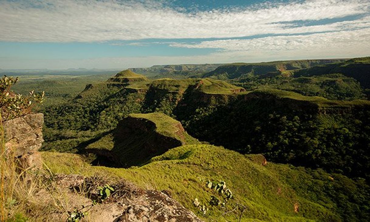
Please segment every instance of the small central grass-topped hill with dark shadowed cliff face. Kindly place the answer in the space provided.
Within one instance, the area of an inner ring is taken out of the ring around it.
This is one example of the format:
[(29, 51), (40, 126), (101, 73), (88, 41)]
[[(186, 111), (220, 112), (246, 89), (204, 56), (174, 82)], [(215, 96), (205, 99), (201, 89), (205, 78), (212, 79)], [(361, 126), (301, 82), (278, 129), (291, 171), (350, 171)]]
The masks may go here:
[(98, 158), (108, 159), (114, 166), (128, 167), (144, 164), (168, 149), (197, 143), (196, 139), (185, 132), (179, 121), (154, 112), (128, 115), (111, 133), (87, 145), (85, 151), (97, 154)]

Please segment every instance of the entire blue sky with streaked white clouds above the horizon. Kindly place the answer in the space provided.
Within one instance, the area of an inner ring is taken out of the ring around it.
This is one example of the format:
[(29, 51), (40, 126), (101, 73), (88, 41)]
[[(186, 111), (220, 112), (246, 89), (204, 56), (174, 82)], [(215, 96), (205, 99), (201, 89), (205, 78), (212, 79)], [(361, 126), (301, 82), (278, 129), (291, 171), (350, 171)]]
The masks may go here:
[(1, 69), (370, 55), (370, 0), (0, 0)]

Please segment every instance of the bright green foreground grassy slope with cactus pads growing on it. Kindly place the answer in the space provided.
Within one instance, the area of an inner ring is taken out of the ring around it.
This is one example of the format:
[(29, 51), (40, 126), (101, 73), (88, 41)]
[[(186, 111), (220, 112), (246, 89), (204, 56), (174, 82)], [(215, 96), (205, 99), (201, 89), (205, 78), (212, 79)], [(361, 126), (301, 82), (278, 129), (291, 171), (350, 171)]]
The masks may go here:
[[(143, 188), (166, 190), (205, 221), (369, 220), (369, 187), (364, 181), (270, 162), (263, 166), (254, 157), (222, 147), (177, 147), (129, 169), (89, 166), (74, 154), (43, 152), (43, 158), (54, 173), (115, 175)], [(234, 198), (225, 207), (209, 204), (211, 196), (221, 195), (206, 186), (208, 180), (225, 181), (232, 191)], [(193, 205), (195, 198), (208, 206), (205, 216)], [(232, 211), (237, 203), (240, 209)]]

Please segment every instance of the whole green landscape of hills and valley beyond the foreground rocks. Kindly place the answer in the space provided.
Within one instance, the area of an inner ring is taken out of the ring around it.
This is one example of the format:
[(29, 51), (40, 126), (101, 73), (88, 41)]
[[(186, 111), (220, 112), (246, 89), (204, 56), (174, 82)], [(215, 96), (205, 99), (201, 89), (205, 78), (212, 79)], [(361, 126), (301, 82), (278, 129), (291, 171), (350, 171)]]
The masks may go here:
[[(21, 78), (13, 90), (45, 91), (51, 175), (124, 179), (204, 221), (367, 221), (369, 64), (158, 66)], [(229, 202), (211, 181), (227, 184)]]

